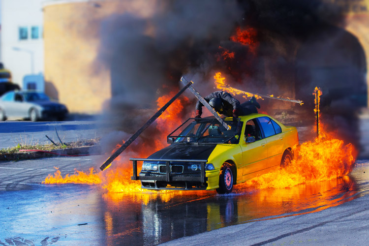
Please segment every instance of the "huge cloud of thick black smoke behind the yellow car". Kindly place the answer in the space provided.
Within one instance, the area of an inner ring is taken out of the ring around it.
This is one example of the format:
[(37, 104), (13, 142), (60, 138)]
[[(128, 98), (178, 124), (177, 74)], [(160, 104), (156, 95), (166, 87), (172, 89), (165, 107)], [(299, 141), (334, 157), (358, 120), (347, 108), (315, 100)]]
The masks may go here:
[[(159, 96), (179, 89), (183, 75), (193, 79), (204, 96), (215, 91), (213, 76), (221, 71), (237, 88), (304, 100), (303, 106), (287, 106), (303, 119), (297, 125), (314, 122), (312, 92), (321, 87), (327, 125), (345, 140), (358, 143), (356, 114), (367, 101), (366, 61), (360, 43), (344, 30), (345, 19), (335, 2), (156, 3), (150, 15), (128, 11), (101, 24), (99, 59), (111, 71), (107, 118), (114, 122), (112, 127), (134, 132), (154, 114)], [(237, 28), (256, 30), (256, 54), (230, 40)], [(224, 48), (235, 52), (235, 58), (223, 59)], [(191, 102), (185, 105), (183, 118), (194, 108), (195, 100)], [(267, 99), (261, 104), (264, 112), (276, 116), (286, 108)], [(142, 137), (153, 134), (149, 130)]]

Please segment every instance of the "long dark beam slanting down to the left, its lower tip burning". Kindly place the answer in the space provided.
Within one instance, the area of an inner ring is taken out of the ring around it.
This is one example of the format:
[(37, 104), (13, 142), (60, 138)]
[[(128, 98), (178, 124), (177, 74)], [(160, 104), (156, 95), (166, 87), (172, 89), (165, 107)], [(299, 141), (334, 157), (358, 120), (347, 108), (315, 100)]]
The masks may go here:
[(189, 86), (191, 86), (193, 82), (188, 82), (184, 88), (180, 92), (178, 92), (175, 96), (172, 97), (159, 111), (156, 112), (156, 114), (153, 115), (153, 117), (150, 118), (149, 121), (147, 121), (138, 131), (136, 131), (135, 134), (133, 134), (118, 150), (116, 150), (101, 166), (100, 170), (105, 170), (115, 158), (118, 157), (151, 123), (153, 123), (168, 107), (170, 104), (174, 102)]

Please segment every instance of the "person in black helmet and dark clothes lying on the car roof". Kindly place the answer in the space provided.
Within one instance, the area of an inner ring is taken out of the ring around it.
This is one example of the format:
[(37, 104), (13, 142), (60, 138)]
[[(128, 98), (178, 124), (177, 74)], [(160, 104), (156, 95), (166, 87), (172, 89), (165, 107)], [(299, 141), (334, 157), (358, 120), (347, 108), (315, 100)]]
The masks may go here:
[[(250, 100), (240, 103), (239, 100), (231, 96), (228, 92), (218, 91), (207, 95), (204, 99), (216, 112), (226, 117), (238, 118), (239, 116), (257, 113), (256, 108), (260, 108), (260, 104), (256, 101), (254, 96), (252, 96)], [(200, 101), (196, 103), (195, 118), (201, 118), (202, 106), (204, 105)]]

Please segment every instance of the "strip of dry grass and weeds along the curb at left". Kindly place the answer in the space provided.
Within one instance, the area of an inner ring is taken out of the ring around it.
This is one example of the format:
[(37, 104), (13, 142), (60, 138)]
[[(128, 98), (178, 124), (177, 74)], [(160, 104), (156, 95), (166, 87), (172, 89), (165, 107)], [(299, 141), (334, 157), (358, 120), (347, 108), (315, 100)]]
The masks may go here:
[(18, 144), (15, 147), (9, 147), (6, 149), (1, 149), (0, 154), (13, 154), (18, 153), (20, 150), (40, 150), (40, 151), (53, 151), (60, 149), (69, 149), (69, 148), (77, 148), (77, 147), (87, 147), (94, 146), (99, 143), (100, 139), (89, 139), (89, 140), (81, 140), (66, 144), (58, 144), (57, 146), (54, 144)]

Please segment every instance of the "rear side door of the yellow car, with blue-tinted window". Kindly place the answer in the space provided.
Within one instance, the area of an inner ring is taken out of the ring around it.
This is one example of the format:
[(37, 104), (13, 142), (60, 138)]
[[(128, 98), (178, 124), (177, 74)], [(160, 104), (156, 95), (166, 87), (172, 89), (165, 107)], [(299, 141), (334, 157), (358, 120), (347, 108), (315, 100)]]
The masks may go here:
[(281, 127), (269, 117), (259, 117), (268, 149), (268, 167), (280, 165), (283, 154), (283, 134)]

